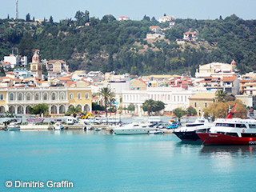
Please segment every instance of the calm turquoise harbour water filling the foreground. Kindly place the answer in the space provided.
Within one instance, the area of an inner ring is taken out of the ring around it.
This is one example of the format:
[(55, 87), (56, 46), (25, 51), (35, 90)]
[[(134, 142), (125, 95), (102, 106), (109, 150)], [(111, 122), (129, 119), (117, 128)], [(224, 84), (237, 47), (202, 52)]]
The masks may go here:
[[(1, 131), (0, 191), (256, 191), (255, 147), (202, 147), (173, 134)], [(5, 186), (49, 180), (74, 187)]]

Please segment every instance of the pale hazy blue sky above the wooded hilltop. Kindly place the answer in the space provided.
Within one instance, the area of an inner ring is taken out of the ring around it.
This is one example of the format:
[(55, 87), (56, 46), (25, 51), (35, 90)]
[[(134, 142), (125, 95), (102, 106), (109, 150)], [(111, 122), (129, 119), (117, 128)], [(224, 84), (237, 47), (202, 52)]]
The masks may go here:
[[(0, 0), (0, 18), (15, 18), (17, 0)], [(255, 0), (18, 0), (19, 18), (50, 18), (58, 22), (74, 18), (77, 10), (89, 10), (90, 17), (102, 18), (113, 14), (115, 18), (128, 16), (141, 20), (146, 14), (158, 19), (166, 15), (175, 18), (215, 19), (236, 14), (239, 18), (256, 18)]]

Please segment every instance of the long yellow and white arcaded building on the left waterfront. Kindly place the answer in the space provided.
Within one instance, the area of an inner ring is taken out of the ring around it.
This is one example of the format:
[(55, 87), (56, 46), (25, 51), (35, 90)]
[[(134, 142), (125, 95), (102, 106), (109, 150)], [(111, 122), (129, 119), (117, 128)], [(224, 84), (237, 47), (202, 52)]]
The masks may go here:
[(29, 106), (45, 103), (50, 114), (65, 114), (70, 106), (91, 112), (88, 87), (9, 87), (0, 90), (0, 113), (28, 114)]

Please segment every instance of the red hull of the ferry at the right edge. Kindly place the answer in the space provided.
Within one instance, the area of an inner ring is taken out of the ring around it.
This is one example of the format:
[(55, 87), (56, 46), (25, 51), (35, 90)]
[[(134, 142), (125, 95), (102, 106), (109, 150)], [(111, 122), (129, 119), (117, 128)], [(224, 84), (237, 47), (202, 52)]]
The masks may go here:
[(256, 138), (239, 138), (226, 134), (197, 134), (205, 145), (256, 145)]

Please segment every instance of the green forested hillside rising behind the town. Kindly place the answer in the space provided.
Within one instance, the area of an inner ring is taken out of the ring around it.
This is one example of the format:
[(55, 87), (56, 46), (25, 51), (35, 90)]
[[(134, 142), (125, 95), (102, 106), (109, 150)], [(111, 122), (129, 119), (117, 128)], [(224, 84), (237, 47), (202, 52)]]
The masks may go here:
[[(241, 74), (256, 70), (256, 20), (234, 14), (216, 20), (175, 19), (175, 26), (164, 32), (166, 39), (157, 41), (146, 40), (149, 27), (166, 28), (169, 23), (147, 16), (118, 22), (112, 15), (89, 18), (89, 12), (78, 11), (74, 20), (26, 21), (0, 19), (0, 60), (18, 48), (29, 57), (38, 49), (41, 58), (65, 60), (70, 70), (194, 74), (199, 65), (233, 59)], [(186, 31), (198, 31), (198, 42), (178, 46), (176, 38)]]

